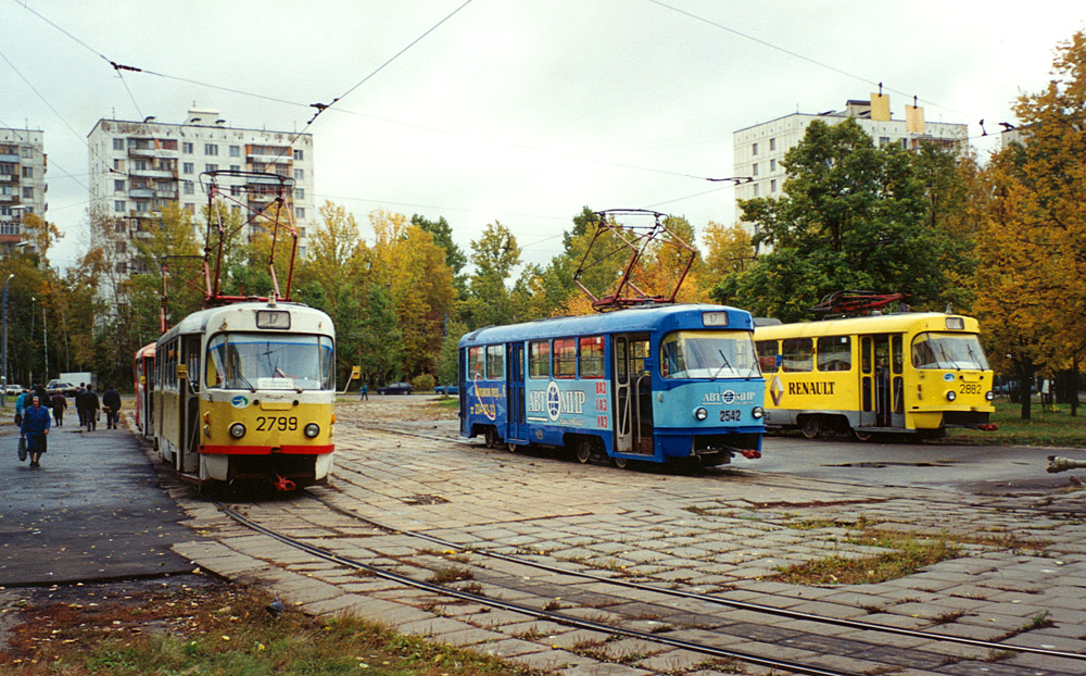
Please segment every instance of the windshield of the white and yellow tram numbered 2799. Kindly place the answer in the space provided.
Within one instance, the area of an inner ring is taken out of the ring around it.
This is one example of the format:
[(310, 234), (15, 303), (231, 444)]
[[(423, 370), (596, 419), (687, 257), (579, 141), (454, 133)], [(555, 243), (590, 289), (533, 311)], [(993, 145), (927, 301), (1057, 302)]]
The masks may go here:
[(207, 387), (330, 390), (332, 339), (298, 334), (217, 334), (207, 343)]

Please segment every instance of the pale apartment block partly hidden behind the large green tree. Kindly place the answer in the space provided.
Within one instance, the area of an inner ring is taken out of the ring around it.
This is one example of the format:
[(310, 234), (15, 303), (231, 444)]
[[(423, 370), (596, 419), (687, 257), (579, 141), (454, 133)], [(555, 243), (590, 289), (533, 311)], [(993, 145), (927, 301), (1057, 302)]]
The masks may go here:
[[(844, 111), (824, 113), (793, 113), (732, 135), (734, 142), (734, 175), (749, 176), (754, 180), (735, 186), (735, 222), (742, 211), (738, 200), (755, 197), (782, 197), (787, 177), (781, 160), (792, 148), (804, 140), (807, 127), (816, 120), (825, 124), (839, 124), (851, 117), (867, 132), (880, 148), (899, 143), (902, 148), (917, 149), (933, 142), (960, 152), (968, 149), (969, 127), (964, 124), (926, 122), (924, 109), (905, 107), (905, 120), (893, 120), (889, 96), (872, 93), (870, 100), (853, 100)], [(749, 227), (750, 224), (745, 224)]]

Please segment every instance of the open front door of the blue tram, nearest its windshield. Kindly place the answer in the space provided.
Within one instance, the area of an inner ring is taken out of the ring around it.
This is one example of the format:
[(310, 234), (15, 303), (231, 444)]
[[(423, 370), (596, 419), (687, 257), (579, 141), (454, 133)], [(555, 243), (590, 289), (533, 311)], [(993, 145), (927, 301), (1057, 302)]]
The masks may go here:
[(615, 450), (653, 454), (652, 376), (645, 368), (648, 336), (615, 336)]

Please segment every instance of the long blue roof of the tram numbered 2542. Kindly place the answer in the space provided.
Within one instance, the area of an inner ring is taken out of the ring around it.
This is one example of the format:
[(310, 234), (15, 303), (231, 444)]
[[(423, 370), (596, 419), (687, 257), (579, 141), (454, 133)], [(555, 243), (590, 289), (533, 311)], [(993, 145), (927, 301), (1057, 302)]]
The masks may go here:
[(684, 304), (684, 305), (645, 305), (628, 308), (605, 314), (590, 314), (568, 317), (553, 317), (510, 324), (508, 326), (488, 326), (460, 338), (460, 347), (488, 342), (506, 342), (509, 340), (539, 340), (543, 338), (563, 338), (572, 336), (591, 336), (596, 334), (620, 334), (651, 330), (675, 330), (703, 328), (702, 314), (705, 312), (727, 312), (728, 328), (732, 330), (750, 330), (754, 321), (746, 310), (728, 305)]

